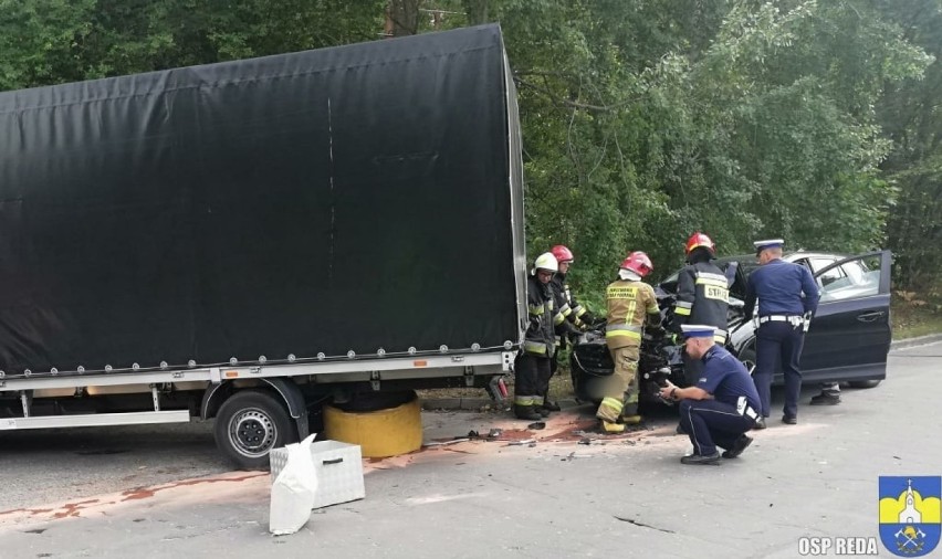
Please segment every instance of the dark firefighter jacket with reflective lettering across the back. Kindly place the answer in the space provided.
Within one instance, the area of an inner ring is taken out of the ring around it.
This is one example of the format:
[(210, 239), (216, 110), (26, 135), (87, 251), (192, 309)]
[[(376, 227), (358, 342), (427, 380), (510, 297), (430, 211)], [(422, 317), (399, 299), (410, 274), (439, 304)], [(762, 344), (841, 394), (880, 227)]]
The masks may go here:
[(703, 324), (716, 328), (714, 338), (726, 340), (729, 283), (723, 271), (712, 262), (688, 264), (677, 278), (677, 303), (671, 327), (680, 331), (682, 324)]

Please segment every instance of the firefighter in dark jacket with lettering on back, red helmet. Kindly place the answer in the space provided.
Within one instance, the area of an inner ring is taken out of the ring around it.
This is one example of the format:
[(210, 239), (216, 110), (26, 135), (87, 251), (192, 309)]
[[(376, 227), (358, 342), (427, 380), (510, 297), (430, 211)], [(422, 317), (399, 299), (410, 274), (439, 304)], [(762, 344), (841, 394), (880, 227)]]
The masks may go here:
[[(673, 307), (671, 330), (681, 334), (684, 324), (708, 325), (714, 328), (713, 340), (726, 344), (730, 289), (726, 276), (711, 261), (715, 256), (713, 240), (700, 231), (687, 240), (687, 266), (677, 278), (677, 303)], [(687, 383), (700, 379), (703, 361), (692, 359), (684, 351), (683, 370)]]

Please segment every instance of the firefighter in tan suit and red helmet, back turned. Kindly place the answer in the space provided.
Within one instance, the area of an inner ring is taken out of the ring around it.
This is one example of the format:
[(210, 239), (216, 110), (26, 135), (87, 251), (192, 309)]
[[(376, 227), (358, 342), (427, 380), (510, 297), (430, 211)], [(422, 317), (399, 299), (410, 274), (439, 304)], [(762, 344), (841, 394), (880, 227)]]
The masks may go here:
[(651, 259), (647, 254), (632, 252), (621, 263), (618, 280), (606, 288), (608, 320), (605, 341), (615, 361), (615, 372), (609, 377), (605, 397), (596, 411), (600, 430), (605, 433), (620, 433), (626, 424), (641, 421), (638, 414), (641, 334), (646, 323), (650, 327), (661, 324), (655, 289), (641, 281), (652, 271)]

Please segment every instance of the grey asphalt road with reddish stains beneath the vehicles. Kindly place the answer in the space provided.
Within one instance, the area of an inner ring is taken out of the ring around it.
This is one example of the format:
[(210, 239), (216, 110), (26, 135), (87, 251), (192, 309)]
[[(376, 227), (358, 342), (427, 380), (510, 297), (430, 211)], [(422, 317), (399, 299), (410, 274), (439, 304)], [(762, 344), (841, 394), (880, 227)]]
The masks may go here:
[(279, 538), (268, 475), (228, 472), (208, 425), (4, 433), (0, 558), (798, 557), (803, 537), (879, 541), (878, 477), (942, 475), (940, 370), (942, 344), (893, 350), (878, 388), (804, 405), (721, 466), (679, 463), (690, 443), (669, 413), (592, 444), (585, 408), (532, 432), (426, 413), (429, 442), (495, 426), (504, 440), (368, 461), (365, 499)]

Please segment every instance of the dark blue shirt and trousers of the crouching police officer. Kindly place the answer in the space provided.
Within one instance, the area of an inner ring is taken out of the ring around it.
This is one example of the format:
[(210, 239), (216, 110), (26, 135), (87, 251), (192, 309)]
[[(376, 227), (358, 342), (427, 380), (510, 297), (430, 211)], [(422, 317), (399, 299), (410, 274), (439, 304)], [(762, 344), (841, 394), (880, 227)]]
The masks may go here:
[(753, 428), (758, 418), (758, 393), (745, 366), (725, 348), (711, 347), (702, 360), (703, 373), (695, 386), (713, 399), (682, 400), (680, 424), (693, 443), (693, 453), (711, 456), (716, 446), (732, 449)]

